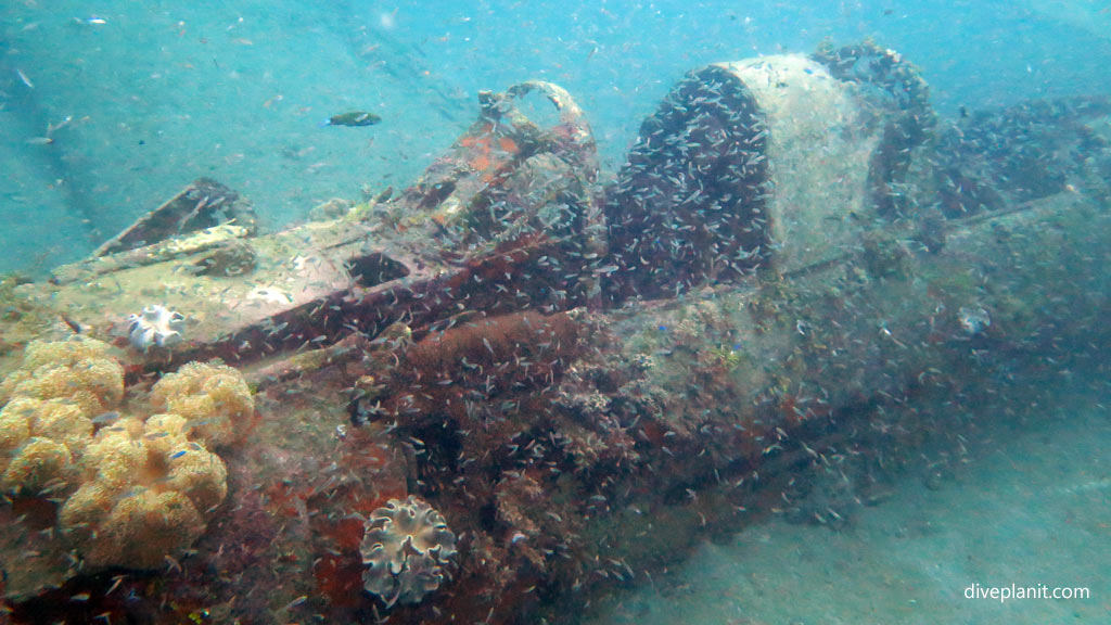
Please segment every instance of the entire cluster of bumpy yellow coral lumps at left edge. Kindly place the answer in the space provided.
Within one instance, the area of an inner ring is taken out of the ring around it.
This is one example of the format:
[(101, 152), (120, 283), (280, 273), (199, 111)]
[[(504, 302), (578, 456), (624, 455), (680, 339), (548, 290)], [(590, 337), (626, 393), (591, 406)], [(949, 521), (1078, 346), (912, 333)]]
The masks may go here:
[(0, 383), (0, 488), (59, 502), (59, 533), (89, 565), (152, 568), (188, 548), (227, 495), (209, 450), (254, 401), (231, 367), (190, 363), (151, 390), (153, 416), (116, 411), (123, 369), (101, 341), (32, 341)]

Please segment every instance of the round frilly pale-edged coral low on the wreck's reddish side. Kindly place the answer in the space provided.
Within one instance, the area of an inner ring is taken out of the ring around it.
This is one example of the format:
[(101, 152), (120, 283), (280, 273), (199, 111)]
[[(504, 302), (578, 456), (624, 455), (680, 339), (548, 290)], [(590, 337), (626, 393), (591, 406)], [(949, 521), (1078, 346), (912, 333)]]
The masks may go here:
[(362, 540), (363, 587), (392, 606), (420, 603), (454, 565), (456, 535), (443, 516), (412, 495), (390, 499), (367, 519)]

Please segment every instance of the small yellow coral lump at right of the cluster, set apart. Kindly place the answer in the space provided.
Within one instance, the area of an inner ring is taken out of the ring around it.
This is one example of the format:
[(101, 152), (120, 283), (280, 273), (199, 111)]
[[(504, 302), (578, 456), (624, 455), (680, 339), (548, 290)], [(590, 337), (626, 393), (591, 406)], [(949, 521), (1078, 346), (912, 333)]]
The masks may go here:
[(254, 399), (243, 376), (213, 363), (189, 363), (168, 374), (151, 389), (156, 410), (188, 420), (188, 435), (211, 446), (239, 438), (254, 414)]

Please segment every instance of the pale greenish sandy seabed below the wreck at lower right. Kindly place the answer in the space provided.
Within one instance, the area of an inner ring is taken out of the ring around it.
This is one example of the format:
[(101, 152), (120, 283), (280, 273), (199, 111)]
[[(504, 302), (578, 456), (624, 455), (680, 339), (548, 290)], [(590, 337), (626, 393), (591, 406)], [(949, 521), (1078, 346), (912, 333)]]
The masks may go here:
[[(1088, 397), (1054, 413), (999, 428), (940, 485), (907, 476), (839, 530), (774, 518), (705, 543), (590, 623), (1111, 623), (1111, 410)], [(973, 584), (1090, 598), (965, 598)]]

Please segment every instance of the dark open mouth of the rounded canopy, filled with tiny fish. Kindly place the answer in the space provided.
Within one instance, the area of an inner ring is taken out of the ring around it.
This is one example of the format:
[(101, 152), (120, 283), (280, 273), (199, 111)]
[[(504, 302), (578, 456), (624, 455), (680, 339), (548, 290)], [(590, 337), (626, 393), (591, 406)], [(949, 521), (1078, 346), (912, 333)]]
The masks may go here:
[(607, 194), (609, 298), (673, 295), (734, 278), (767, 250), (762, 113), (724, 68), (693, 71), (644, 120)]

